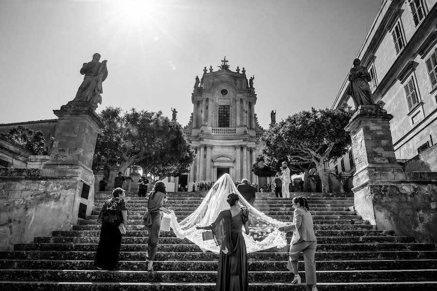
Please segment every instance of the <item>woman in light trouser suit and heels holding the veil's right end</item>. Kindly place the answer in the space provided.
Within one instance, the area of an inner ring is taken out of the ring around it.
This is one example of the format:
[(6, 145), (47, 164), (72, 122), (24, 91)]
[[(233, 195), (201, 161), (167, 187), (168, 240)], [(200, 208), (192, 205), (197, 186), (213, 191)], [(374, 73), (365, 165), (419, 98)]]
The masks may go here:
[(301, 276), (298, 272), (299, 253), (303, 252), (305, 263), (306, 285), (312, 286), (312, 291), (317, 291), (316, 280), (316, 247), (317, 240), (313, 228), (313, 218), (309, 211), (308, 202), (303, 197), (293, 198), (294, 219), (293, 224), (280, 227), (280, 231), (293, 231), (297, 228), (299, 236), (298, 242), (290, 245), (290, 253), (287, 269), (294, 273), (294, 279), (291, 283), (301, 283)]

